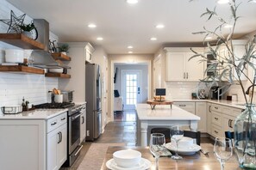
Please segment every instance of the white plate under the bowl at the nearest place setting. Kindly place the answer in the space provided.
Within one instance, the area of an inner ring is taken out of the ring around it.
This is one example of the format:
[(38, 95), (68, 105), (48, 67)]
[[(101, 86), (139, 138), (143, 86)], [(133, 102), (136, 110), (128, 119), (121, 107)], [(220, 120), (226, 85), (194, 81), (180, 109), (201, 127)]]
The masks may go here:
[(151, 162), (145, 158), (141, 158), (140, 163), (135, 167), (119, 167), (112, 158), (106, 162), (106, 166), (112, 170), (146, 170), (151, 167)]

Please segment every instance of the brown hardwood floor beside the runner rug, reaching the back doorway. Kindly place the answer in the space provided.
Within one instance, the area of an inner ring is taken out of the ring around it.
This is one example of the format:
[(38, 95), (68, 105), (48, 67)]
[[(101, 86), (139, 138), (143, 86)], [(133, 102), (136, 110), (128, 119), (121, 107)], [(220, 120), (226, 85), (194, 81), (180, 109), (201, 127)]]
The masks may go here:
[[(135, 146), (136, 134), (135, 111), (115, 112), (114, 122), (109, 122), (106, 125), (104, 133), (96, 141), (83, 143), (84, 147), (81, 150), (80, 156), (72, 167), (61, 167), (60, 170), (77, 170), (91, 143), (126, 143), (127, 146)], [(209, 137), (201, 137), (201, 143), (213, 143), (213, 140)]]

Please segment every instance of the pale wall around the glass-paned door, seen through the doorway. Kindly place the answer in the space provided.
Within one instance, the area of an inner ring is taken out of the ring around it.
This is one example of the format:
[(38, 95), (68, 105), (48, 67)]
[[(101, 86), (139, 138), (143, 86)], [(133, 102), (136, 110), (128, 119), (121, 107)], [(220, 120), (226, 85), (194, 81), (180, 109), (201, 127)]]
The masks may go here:
[(140, 101), (146, 103), (148, 100), (148, 71), (146, 64), (115, 64), (114, 70), (117, 68), (115, 89), (122, 95), (122, 70), (140, 70)]

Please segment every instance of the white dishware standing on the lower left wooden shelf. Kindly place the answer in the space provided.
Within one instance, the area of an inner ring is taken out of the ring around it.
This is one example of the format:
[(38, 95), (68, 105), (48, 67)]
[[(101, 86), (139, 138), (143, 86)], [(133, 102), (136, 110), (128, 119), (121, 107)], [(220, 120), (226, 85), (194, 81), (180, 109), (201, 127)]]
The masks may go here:
[(7, 63), (23, 63), (24, 51), (16, 49), (5, 50), (5, 62)]

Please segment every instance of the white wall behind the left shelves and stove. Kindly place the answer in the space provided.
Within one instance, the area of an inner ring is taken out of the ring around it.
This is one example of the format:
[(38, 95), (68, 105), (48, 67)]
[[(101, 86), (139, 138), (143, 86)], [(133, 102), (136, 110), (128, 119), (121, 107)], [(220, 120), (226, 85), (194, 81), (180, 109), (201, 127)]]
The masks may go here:
[[(10, 10), (19, 16), (24, 13), (5, 0), (0, 1), (0, 18), (9, 19)], [(26, 15), (25, 23), (29, 23), (31, 17)], [(0, 33), (6, 33), (8, 26), (0, 22)], [(58, 39), (50, 33), (50, 39)], [(0, 41), (0, 63), (5, 61), (4, 49), (16, 48)], [(26, 51), (28, 54), (29, 52)], [(58, 79), (49, 78), (44, 75), (25, 75), (0, 72), (0, 106), (21, 105), (22, 98), (36, 105), (47, 102), (48, 90), (58, 88)], [(1, 111), (0, 111), (1, 113)]]

